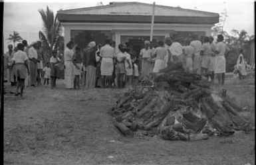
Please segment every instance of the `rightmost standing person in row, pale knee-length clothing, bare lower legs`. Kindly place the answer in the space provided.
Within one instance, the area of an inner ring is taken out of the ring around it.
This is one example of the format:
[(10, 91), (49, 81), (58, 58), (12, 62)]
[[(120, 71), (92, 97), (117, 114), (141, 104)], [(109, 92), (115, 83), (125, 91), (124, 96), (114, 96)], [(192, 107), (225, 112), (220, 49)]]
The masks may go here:
[(226, 59), (225, 51), (226, 44), (223, 42), (224, 37), (222, 34), (217, 35), (217, 44), (215, 54), (217, 55), (216, 64), (215, 64), (215, 74), (217, 74), (217, 79), (219, 85), (224, 85), (225, 82), (225, 72), (226, 72)]

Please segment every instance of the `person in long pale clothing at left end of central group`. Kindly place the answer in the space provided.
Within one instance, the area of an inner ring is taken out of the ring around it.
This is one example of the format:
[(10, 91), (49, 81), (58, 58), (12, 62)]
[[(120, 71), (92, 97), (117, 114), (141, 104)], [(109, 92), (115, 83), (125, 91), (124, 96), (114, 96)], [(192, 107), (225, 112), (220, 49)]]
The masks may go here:
[(74, 56), (74, 52), (72, 50), (73, 47), (74, 42), (70, 41), (66, 44), (66, 48), (64, 50), (66, 89), (74, 88), (74, 64), (72, 62), (72, 58)]

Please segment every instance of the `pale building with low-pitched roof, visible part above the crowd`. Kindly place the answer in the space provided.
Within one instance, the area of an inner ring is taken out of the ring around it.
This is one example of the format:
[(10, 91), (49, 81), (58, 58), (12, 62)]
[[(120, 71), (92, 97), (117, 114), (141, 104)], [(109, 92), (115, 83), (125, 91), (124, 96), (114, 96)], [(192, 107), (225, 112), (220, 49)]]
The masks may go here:
[[(68, 9), (57, 12), (64, 27), (64, 44), (74, 40), (85, 46), (91, 40), (104, 44), (109, 38), (130, 43), (138, 52), (144, 40), (150, 40), (152, 4), (138, 2), (112, 2), (109, 5)], [(180, 7), (155, 5), (153, 42), (173, 34), (176, 38), (210, 35), (211, 27), (219, 22), (219, 14)]]

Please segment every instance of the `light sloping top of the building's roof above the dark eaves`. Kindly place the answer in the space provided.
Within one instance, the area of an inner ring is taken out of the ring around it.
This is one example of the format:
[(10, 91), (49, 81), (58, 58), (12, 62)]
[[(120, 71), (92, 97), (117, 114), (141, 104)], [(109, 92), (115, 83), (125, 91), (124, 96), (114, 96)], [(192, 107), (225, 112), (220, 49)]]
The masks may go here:
[[(152, 4), (138, 2), (110, 3), (110, 5), (86, 7), (80, 9), (68, 9), (58, 11), (58, 14), (65, 15), (152, 15)], [(156, 5), (156, 16), (174, 17), (219, 17), (217, 13), (182, 9), (180, 7), (167, 7)]]

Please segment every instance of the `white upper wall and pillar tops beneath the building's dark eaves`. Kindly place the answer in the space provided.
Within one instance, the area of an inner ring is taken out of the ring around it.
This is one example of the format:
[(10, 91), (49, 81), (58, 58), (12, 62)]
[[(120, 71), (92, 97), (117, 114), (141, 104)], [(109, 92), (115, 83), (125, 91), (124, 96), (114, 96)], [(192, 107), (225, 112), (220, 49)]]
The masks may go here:
[[(120, 44), (121, 35), (150, 36), (150, 24), (138, 23), (62, 23), (64, 27), (64, 45), (70, 40), (70, 30), (111, 30), (112, 39), (115, 38), (116, 46)], [(176, 31), (203, 31), (205, 35), (211, 34), (213, 25), (191, 24), (155, 24), (154, 35), (169, 36), (171, 30)]]

